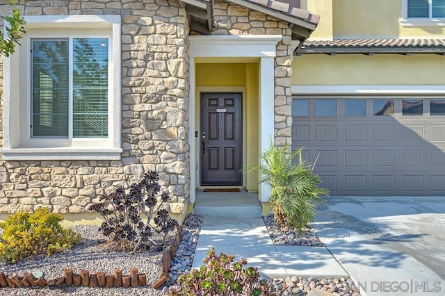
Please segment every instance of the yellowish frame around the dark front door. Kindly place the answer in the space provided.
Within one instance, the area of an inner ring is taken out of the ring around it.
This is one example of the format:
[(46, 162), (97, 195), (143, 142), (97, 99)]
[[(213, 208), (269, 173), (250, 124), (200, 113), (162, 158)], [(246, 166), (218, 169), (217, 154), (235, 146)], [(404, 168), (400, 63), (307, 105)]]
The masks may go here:
[[(238, 92), (241, 93), (241, 106), (243, 107), (241, 110), (241, 117), (242, 117), (242, 126), (241, 126), (241, 135), (243, 137), (242, 141), (242, 158), (243, 162), (241, 163), (242, 167), (245, 167), (246, 163), (246, 142), (245, 142), (245, 128), (246, 128), (246, 122), (245, 122), (245, 87), (244, 86), (197, 86), (196, 87), (196, 96), (195, 96), (195, 131), (198, 131), (198, 137), (195, 137), (195, 147), (200, 147), (200, 127), (201, 127), (201, 93), (202, 92)], [(200, 149), (195, 149), (195, 161), (196, 161), (196, 170), (194, 172), (195, 174), (195, 188), (205, 188), (208, 186), (202, 186), (201, 185), (201, 157), (200, 157)], [(243, 172), (243, 181), (242, 181), (242, 187), (245, 187), (245, 179), (246, 179), (246, 173)], [(220, 186), (222, 187), (222, 186)], [(231, 186), (234, 187), (234, 186)], [(236, 186), (235, 186), (236, 187)]]

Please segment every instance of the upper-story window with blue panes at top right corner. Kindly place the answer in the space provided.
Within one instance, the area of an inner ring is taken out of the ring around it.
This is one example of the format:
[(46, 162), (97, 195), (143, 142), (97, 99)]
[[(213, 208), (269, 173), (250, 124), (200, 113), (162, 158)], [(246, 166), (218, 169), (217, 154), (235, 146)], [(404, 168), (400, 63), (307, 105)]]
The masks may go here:
[(445, 0), (407, 0), (408, 19), (442, 19), (445, 18)]

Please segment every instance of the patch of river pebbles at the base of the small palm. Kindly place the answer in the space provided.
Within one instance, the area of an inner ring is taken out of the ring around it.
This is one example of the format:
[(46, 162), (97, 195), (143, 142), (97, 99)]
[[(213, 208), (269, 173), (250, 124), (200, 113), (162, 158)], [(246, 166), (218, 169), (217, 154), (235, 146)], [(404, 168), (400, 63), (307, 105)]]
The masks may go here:
[(303, 229), (299, 232), (288, 227), (280, 227), (275, 224), (273, 215), (263, 216), (263, 221), (275, 245), (324, 246), (320, 238), (311, 229)]

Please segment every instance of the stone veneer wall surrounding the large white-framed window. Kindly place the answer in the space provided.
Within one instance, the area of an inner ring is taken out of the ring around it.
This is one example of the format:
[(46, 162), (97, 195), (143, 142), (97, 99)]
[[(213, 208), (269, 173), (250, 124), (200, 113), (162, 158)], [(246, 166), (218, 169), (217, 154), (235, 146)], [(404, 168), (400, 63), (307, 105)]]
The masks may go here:
[[(177, 0), (20, 0), (18, 7), (24, 15), (122, 16), (124, 152), (121, 161), (0, 161), (0, 213), (42, 206), (84, 212), (104, 190), (128, 187), (149, 170), (159, 172), (173, 197), (170, 211), (184, 213), (190, 179), (184, 8)], [(7, 13), (10, 7), (0, 5), (0, 15)]]

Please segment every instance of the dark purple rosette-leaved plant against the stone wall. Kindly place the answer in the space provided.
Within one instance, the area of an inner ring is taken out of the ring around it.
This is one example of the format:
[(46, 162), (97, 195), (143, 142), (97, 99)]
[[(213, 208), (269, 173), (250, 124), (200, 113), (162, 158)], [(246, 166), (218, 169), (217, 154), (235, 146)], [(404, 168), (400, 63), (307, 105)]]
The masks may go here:
[(162, 249), (168, 233), (178, 226), (178, 222), (169, 216), (168, 211), (161, 209), (170, 196), (163, 192), (158, 201), (156, 195), (161, 191), (158, 181), (158, 174), (149, 172), (140, 183), (130, 186), (128, 194), (119, 186), (110, 194), (102, 195), (99, 204), (88, 208), (104, 217), (99, 231), (131, 253), (149, 247)]

